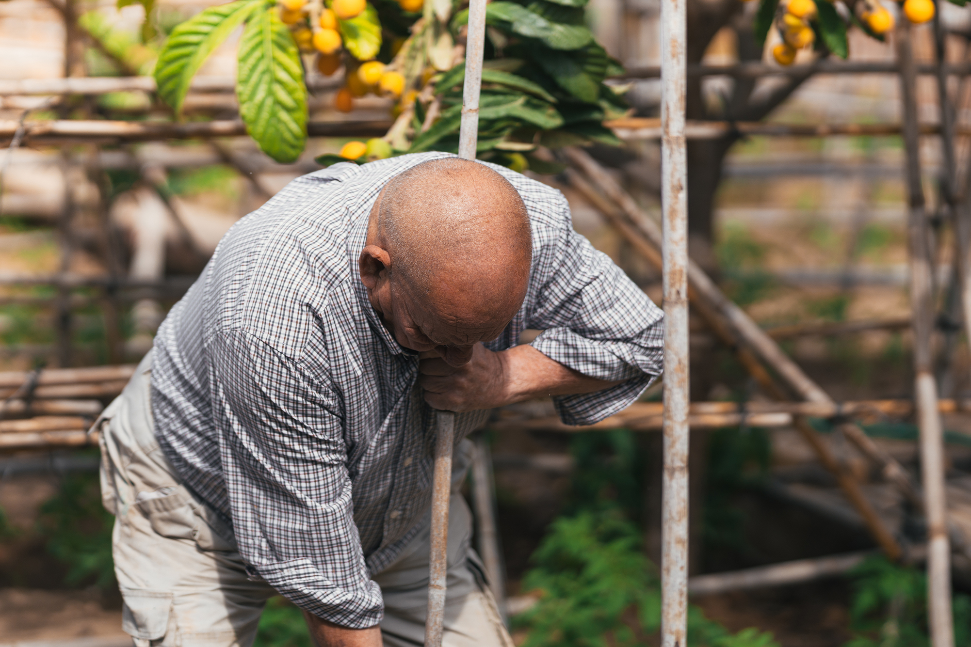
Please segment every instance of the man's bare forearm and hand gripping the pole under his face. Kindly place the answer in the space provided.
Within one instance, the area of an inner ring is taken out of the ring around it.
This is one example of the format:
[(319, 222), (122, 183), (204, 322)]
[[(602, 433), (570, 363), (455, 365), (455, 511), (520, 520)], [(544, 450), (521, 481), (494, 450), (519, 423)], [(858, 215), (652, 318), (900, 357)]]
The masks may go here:
[(451, 367), (434, 352), (421, 353), (419, 385), (425, 402), (448, 411), (474, 411), (531, 398), (600, 391), (619, 382), (568, 369), (529, 345), (493, 352), (477, 343), (472, 359)]

